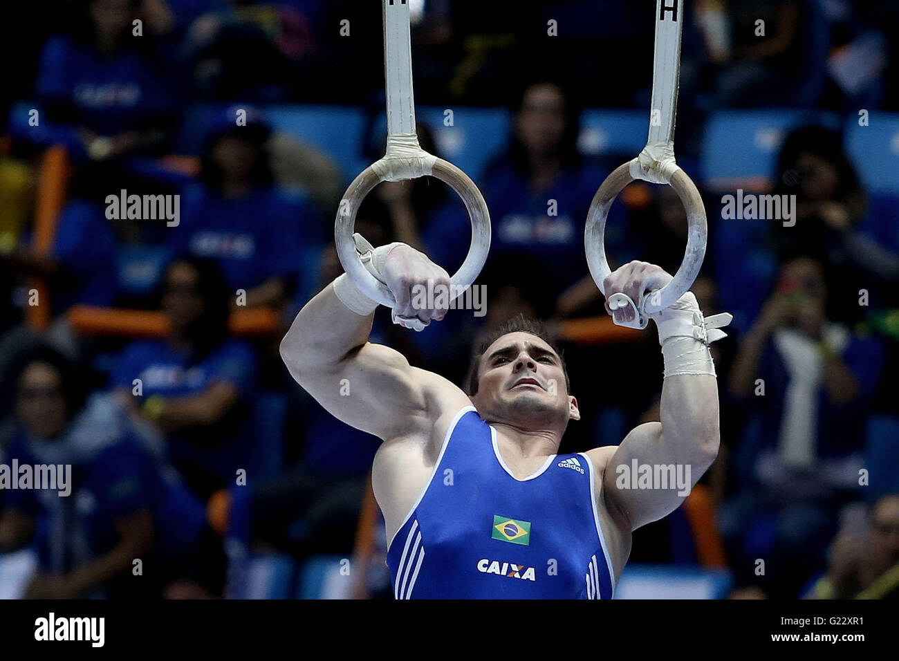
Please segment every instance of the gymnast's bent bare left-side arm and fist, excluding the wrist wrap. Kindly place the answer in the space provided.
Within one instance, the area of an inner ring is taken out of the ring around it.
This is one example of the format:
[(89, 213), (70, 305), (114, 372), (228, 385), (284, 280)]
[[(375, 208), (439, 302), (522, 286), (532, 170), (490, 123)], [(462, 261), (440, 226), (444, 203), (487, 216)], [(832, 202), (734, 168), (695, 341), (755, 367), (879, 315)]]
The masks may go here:
[[(404, 326), (426, 325), (446, 314), (449, 303), (414, 306), (416, 286), (449, 286), (447, 272), (423, 253), (405, 244), (380, 246), (371, 268), (396, 299), (393, 315)], [(441, 302), (441, 297), (433, 299)], [(470, 402), (449, 380), (368, 341), (377, 306), (344, 273), (299, 311), (281, 340), (281, 358), (294, 380), (344, 423), (385, 441), (430, 434), (444, 406)]]

